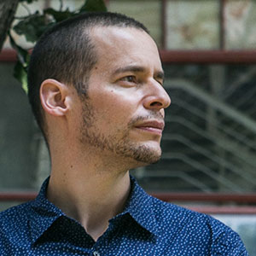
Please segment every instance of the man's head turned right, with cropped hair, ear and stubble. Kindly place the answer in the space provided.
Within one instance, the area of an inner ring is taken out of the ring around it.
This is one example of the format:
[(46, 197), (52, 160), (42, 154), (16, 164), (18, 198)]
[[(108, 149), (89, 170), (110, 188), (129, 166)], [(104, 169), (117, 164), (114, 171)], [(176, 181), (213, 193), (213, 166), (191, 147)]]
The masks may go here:
[[(33, 96), (38, 101), (40, 96), (47, 128), (53, 131), (58, 126), (60, 132), (67, 128), (65, 135), (82, 148), (140, 165), (159, 160), (164, 108), (170, 98), (162, 87), (156, 44), (143, 25), (123, 15), (89, 17), (67, 21), (67, 30), (65, 23), (53, 28), (35, 48), (31, 65), (38, 65), (37, 61), (40, 65), (30, 68), (30, 77), (40, 79), (34, 82), (37, 94), (30, 92), (32, 107), (38, 104), (36, 111), (42, 111), (40, 102), (33, 103)], [(87, 19), (90, 25), (84, 25)], [(59, 35), (63, 39), (58, 38), (51, 50), (51, 42)], [(40, 45), (45, 48), (42, 44), (49, 44), (49, 52), (38, 60)], [(34, 83), (29, 79), (30, 91)]]

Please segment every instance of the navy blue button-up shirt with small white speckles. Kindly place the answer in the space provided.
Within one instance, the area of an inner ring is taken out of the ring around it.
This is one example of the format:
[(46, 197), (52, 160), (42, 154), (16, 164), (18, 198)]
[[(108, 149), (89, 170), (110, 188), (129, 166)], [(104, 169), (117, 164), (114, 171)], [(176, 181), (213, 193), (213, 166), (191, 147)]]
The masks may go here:
[(131, 178), (124, 212), (94, 241), (45, 196), (0, 213), (0, 255), (248, 255), (240, 237), (218, 220), (159, 201)]

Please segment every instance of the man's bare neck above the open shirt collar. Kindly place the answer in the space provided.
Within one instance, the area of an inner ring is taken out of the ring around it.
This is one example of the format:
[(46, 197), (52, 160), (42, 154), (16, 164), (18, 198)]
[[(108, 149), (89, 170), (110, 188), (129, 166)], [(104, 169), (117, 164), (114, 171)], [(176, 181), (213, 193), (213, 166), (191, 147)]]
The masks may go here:
[(96, 161), (96, 154), (93, 156), (85, 161), (52, 157), (47, 197), (68, 217), (79, 221), (96, 241), (108, 229), (108, 220), (123, 211), (130, 177), (128, 171), (106, 161), (103, 165), (102, 157)]

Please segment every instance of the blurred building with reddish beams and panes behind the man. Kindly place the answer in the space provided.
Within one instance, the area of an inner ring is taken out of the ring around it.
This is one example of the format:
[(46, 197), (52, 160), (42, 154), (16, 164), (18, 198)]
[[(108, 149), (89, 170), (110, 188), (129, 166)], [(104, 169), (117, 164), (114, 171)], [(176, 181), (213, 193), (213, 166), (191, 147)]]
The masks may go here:
[[(16, 15), (60, 2), (64, 9), (84, 3), (38, 0), (20, 4)], [(256, 1), (106, 4), (148, 27), (172, 98), (162, 159), (132, 174), (148, 193), (224, 221), (256, 255)], [(13, 77), (15, 60), (7, 40), (0, 54), (0, 210), (32, 199), (50, 166), (26, 94)]]

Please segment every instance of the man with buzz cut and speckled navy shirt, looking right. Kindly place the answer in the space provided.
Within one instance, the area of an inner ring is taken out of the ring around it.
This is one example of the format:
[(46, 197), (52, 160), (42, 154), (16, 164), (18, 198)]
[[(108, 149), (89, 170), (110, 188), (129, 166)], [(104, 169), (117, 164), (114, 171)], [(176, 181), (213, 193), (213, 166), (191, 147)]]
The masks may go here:
[(160, 159), (163, 79), (154, 40), (123, 15), (80, 15), (44, 34), (28, 83), (51, 174), (35, 201), (1, 213), (1, 255), (247, 255), (224, 224), (129, 176)]

